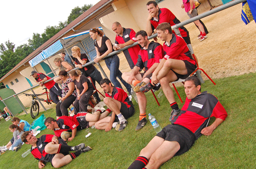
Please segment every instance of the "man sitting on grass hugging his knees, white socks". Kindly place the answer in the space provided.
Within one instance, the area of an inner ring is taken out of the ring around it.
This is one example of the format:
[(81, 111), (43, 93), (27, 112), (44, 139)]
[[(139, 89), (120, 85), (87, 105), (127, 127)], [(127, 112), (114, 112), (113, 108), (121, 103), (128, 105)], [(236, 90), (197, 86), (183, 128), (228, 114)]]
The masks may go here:
[(109, 79), (102, 79), (100, 85), (106, 95), (103, 99), (106, 106), (108, 106), (106, 111), (109, 113), (112, 111), (112, 115), (96, 122), (95, 128), (110, 131), (115, 127), (117, 131), (122, 131), (127, 125), (126, 119), (134, 114), (133, 102), (123, 89), (112, 86)]

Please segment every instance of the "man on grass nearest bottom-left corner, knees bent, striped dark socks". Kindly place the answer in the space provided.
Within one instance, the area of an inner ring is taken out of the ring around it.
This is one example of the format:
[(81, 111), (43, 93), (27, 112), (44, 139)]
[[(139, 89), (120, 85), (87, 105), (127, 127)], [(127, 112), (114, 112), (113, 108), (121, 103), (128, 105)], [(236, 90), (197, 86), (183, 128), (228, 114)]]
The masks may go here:
[[(38, 160), (38, 167), (44, 168), (46, 162), (51, 162), (52, 166), (59, 168), (67, 165), (81, 153), (92, 150), (89, 146), (81, 143), (77, 146), (68, 146), (61, 138), (55, 135), (45, 134), (36, 138), (30, 131), (22, 134), (22, 141), (31, 145), (31, 153)], [(75, 151), (69, 153), (69, 151)]]

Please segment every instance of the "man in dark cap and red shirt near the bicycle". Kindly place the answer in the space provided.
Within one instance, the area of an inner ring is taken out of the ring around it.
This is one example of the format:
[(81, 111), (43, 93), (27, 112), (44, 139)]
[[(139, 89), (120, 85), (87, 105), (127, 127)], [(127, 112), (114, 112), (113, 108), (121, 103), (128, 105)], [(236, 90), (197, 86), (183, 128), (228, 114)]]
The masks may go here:
[(42, 87), (45, 85), (45, 87), (47, 89), (49, 89), (50, 91), (50, 96), (52, 98), (52, 101), (54, 103), (58, 103), (59, 102), (59, 97), (61, 97), (61, 94), (62, 94), (62, 91), (61, 89), (59, 88), (58, 84), (55, 83), (54, 80), (51, 80), (51, 81), (48, 81), (46, 83), (44, 83), (45, 81), (51, 79), (51, 77), (45, 75), (44, 73), (37, 73), (36, 71), (32, 71), (31, 72), (31, 75), (30, 76), (33, 76), (35, 78), (35, 80), (37, 82), (39, 82), (39, 86)]

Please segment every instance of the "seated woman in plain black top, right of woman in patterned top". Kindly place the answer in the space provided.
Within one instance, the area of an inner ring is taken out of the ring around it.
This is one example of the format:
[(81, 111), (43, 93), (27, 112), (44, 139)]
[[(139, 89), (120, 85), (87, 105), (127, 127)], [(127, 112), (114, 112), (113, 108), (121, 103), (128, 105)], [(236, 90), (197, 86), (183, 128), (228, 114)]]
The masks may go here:
[(81, 75), (80, 70), (71, 70), (69, 72), (70, 78), (74, 81), (77, 97), (74, 102), (74, 113), (86, 111), (90, 97), (93, 94), (93, 85), (90, 80)]

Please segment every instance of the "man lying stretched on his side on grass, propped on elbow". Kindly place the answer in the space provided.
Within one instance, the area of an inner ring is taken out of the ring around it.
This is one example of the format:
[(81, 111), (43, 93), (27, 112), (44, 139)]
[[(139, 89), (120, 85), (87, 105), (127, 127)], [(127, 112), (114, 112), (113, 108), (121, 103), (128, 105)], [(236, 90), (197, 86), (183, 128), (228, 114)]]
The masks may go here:
[(71, 141), (76, 136), (76, 131), (93, 126), (98, 120), (108, 116), (108, 112), (100, 114), (100, 110), (91, 114), (89, 112), (78, 112), (74, 116), (61, 116), (57, 120), (48, 117), (45, 125), (48, 129), (53, 130), (54, 134), (60, 137), (62, 131), (72, 131), (72, 136), (68, 138)]

